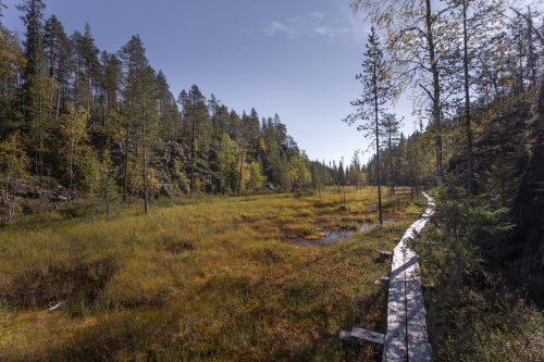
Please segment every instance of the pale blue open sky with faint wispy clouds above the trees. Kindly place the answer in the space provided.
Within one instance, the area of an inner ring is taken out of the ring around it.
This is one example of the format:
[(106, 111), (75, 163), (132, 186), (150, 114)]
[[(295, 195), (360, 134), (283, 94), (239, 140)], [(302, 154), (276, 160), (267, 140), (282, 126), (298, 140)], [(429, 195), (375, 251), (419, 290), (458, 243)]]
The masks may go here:
[[(21, 0), (3, 0), (3, 25), (24, 33)], [(89, 23), (100, 51), (116, 52), (139, 34), (151, 66), (175, 98), (198, 85), (238, 113), (275, 113), (311, 160), (350, 161), (368, 140), (344, 122), (361, 93), (370, 27), (349, 0), (44, 0), (70, 36)], [(390, 108), (415, 129), (411, 104)], [(399, 117), (398, 116), (398, 117)], [(367, 152), (361, 155), (364, 161)]]

